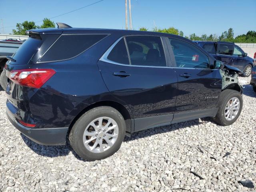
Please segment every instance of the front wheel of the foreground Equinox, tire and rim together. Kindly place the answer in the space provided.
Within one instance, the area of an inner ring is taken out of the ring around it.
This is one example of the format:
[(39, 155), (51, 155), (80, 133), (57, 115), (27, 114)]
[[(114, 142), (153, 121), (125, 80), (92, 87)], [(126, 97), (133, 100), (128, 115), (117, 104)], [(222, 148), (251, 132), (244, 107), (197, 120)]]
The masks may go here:
[(239, 117), (243, 106), (240, 92), (235, 90), (224, 90), (220, 94), (218, 112), (214, 120), (223, 126), (233, 124)]

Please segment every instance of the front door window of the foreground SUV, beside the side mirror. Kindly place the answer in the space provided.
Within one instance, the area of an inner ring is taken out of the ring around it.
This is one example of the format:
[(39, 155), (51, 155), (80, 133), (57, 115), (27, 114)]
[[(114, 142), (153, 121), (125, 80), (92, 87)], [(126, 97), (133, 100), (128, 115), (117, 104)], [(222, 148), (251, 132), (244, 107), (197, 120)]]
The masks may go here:
[(180, 68), (209, 68), (209, 58), (191, 44), (169, 38), (176, 60), (176, 67)]

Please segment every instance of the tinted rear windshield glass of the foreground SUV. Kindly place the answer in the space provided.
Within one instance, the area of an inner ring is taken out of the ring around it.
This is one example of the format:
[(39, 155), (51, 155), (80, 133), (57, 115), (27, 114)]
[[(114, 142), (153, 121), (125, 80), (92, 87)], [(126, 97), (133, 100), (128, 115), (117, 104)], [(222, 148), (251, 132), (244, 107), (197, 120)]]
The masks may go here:
[(13, 58), (16, 62), (12, 62), (12, 64), (28, 64), (41, 45), (42, 40), (40, 38), (28, 38), (14, 53)]

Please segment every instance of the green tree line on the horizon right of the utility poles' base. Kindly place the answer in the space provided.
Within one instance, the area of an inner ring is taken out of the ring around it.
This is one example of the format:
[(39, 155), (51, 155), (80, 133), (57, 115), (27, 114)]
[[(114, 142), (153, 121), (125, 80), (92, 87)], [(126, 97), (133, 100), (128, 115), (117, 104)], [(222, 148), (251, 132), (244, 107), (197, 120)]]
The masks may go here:
[[(169, 33), (174, 35), (179, 35), (184, 37), (184, 33), (179, 31), (174, 27), (170, 28), (153, 28), (152, 30), (148, 30), (145, 27), (140, 28), (140, 31), (153, 31), (153, 32), (161, 32), (161, 33)], [(185, 36), (192, 41), (226, 41), (226, 42), (234, 42), (234, 43), (256, 43), (256, 31), (248, 31), (246, 34), (238, 35), (234, 38), (234, 30), (229, 28), (228, 31), (224, 31), (221, 36), (217, 36), (216, 34), (210, 34), (207, 36), (203, 34), (202, 36), (197, 36), (195, 33), (190, 34), (190, 36)]]

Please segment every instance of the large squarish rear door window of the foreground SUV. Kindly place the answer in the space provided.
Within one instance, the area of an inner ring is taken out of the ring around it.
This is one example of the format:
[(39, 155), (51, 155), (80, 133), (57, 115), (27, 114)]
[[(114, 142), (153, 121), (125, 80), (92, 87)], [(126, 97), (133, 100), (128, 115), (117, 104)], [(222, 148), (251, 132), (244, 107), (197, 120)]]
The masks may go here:
[(160, 37), (128, 36), (126, 43), (132, 65), (166, 66), (164, 48)]

